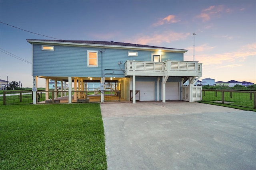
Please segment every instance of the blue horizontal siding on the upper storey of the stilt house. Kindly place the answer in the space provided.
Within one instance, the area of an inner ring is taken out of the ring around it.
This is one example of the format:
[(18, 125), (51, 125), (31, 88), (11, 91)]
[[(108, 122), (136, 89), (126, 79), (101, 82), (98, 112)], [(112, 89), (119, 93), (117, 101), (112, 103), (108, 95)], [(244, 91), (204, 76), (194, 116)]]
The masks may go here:
[[(54, 45), (55, 51), (42, 51), (41, 44), (33, 44), (33, 76), (101, 77), (103, 68), (105, 77), (124, 77), (124, 63), (127, 60), (151, 61), (151, 54), (157, 53), (110, 48), (101, 53), (102, 49)], [(87, 66), (88, 50), (98, 51), (98, 67)], [(138, 57), (129, 57), (128, 51), (138, 52)], [(182, 61), (183, 53), (162, 52), (162, 61), (166, 60)]]

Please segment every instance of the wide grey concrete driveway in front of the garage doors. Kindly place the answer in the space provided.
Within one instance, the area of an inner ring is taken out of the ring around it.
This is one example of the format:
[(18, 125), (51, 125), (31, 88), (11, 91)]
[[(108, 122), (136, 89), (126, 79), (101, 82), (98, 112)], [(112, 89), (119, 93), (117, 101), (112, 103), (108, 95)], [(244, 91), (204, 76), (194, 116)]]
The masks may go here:
[(108, 170), (256, 169), (256, 112), (183, 101), (100, 107)]

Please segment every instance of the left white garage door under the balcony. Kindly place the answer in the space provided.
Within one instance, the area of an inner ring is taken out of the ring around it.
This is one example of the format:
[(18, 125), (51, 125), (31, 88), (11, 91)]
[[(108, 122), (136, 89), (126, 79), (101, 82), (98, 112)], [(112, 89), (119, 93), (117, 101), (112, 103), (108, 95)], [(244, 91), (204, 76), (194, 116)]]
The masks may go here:
[(154, 82), (136, 82), (135, 87), (136, 90), (140, 90), (140, 101), (155, 100)]

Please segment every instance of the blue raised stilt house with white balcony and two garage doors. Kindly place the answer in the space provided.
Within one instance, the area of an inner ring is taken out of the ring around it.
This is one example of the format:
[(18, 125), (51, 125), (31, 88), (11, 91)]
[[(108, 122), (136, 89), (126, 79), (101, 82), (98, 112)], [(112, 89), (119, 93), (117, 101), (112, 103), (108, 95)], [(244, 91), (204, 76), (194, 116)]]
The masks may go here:
[[(184, 61), (185, 49), (114, 41), (27, 41), (32, 44), (34, 91), (38, 77), (46, 79), (46, 90), (50, 79), (70, 86), (75, 82), (68, 89), (68, 103), (72, 102), (72, 88), (84, 90), (88, 83), (100, 83), (101, 102), (106, 83), (118, 84), (121, 98), (128, 101), (138, 90), (140, 101), (194, 102), (202, 98), (202, 87), (194, 86), (202, 76), (202, 64)], [(131, 101), (136, 103), (136, 97)]]

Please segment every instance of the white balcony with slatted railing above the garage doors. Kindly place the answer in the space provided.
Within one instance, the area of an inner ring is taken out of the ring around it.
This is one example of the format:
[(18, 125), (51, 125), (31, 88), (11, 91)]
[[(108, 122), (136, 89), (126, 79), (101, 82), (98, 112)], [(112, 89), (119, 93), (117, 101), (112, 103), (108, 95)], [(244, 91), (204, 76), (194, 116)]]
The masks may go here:
[(198, 61), (126, 61), (124, 76), (202, 76)]

